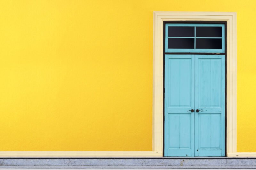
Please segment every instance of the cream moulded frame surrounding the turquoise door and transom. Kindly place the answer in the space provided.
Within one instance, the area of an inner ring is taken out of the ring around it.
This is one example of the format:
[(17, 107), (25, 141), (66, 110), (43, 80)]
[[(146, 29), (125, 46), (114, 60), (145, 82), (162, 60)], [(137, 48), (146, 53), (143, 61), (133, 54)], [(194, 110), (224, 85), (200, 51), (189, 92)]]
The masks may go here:
[(153, 151), (163, 151), (163, 21), (227, 22), (227, 153), (236, 153), (236, 12), (154, 11)]

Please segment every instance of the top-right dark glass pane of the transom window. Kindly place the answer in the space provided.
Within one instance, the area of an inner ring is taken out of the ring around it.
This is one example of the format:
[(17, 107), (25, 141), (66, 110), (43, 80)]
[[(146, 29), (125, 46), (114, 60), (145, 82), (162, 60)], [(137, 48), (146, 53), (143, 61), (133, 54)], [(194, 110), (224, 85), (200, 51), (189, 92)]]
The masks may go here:
[(196, 37), (222, 37), (222, 27), (219, 26), (197, 26)]

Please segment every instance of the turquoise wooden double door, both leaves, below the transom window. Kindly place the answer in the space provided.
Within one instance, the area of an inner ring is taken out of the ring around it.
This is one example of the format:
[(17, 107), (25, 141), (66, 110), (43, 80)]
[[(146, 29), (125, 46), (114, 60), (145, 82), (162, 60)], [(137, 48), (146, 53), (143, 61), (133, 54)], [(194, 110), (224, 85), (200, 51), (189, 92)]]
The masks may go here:
[(164, 156), (225, 156), (225, 55), (164, 57)]

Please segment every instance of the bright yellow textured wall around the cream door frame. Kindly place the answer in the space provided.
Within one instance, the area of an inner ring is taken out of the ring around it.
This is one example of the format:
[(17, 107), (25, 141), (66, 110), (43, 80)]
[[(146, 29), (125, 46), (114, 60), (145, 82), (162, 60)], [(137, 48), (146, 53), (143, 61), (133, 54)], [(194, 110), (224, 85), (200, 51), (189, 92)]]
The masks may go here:
[(255, 7), (1, 0), (0, 151), (152, 150), (153, 11), (235, 11), (237, 150), (256, 152)]

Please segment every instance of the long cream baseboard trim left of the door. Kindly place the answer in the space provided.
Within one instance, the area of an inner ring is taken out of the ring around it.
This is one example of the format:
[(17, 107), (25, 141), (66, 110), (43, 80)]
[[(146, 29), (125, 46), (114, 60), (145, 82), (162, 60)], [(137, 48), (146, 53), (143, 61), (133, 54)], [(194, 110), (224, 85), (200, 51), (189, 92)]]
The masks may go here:
[(1, 151), (7, 157), (162, 157), (153, 151)]

